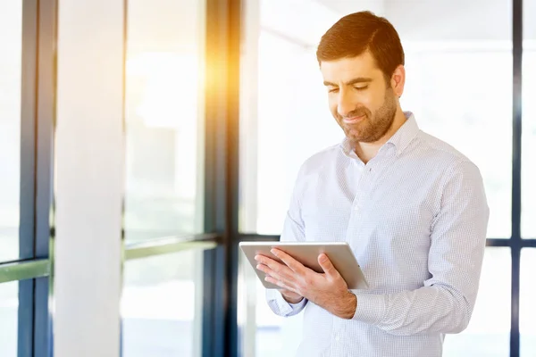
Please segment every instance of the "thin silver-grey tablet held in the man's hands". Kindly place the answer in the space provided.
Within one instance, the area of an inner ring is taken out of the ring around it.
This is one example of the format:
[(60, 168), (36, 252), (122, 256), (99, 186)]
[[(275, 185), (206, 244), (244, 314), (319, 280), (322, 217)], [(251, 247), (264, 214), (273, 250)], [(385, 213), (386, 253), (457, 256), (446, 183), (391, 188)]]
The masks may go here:
[(330, 258), (335, 269), (339, 271), (341, 277), (347, 282), (348, 289), (368, 288), (363, 271), (347, 242), (240, 242), (239, 246), (247, 261), (255, 270), (257, 277), (264, 287), (268, 289), (281, 289), (281, 287), (264, 280), (264, 271), (256, 269), (258, 262), (255, 261), (255, 255), (262, 254), (272, 258), (274, 261), (281, 262), (279, 258), (270, 252), (272, 248), (281, 249), (281, 251), (288, 253), (307, 268), (318, 273), (323, 272), (318, 263), (318, 255), (325, 253)]

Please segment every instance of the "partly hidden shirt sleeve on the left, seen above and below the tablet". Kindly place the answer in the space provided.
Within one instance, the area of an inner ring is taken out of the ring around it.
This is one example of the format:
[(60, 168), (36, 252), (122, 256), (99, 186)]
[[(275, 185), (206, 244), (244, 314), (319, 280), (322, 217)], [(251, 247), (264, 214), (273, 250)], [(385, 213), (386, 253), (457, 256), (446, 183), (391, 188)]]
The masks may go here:
[[(289, 210), (281, 232), (281, 242), (301, 242), (306, 240), (305, 224), (301, 218), (300, 178), (302, 170), (300, 169), (297, 175)], [(276, 289), (266, 289), (266, 301), (270, 309), (279, 316), (296, 315), (306, 307), (307, 303), (306, 298), (299, 303), (288, 303)]]

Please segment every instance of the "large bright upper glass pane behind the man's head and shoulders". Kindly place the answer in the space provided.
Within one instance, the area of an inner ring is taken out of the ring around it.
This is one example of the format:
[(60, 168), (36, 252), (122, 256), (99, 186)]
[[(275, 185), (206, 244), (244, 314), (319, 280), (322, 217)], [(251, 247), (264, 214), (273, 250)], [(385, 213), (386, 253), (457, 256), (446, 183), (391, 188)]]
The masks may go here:
[[(342, 140), (343, 133), (328, 110), (315, 50), (334, 21), (364, 10), (363, 5), (246, 1), (241, 231), (281, 233), (300, 164)], [(403, 110), (414, 112), (421, 129), (477, 164), (490, 204), (488, 235), (510, 237), (511, 1), (465, 2), (463, 9), (447, 0), (366, 5), (391, 21), (402, 39), (406, 52)]]

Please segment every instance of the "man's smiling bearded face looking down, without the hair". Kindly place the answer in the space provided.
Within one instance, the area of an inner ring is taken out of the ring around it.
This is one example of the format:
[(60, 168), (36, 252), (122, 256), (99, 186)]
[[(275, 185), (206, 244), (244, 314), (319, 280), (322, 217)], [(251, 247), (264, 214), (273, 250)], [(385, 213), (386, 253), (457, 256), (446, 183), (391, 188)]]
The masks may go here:
[(321, 63), (330, 110), (353, 142), (373, 143), (390, 129), (397, 97), (368, 51), (353, 58)]

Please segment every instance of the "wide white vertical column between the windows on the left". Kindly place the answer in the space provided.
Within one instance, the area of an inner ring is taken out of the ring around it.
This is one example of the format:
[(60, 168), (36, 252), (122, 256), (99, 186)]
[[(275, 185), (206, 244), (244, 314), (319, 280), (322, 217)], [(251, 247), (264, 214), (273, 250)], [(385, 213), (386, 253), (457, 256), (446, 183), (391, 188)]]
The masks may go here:
[(123, 0), (59, 0), (54, 357), (120, 353)]

